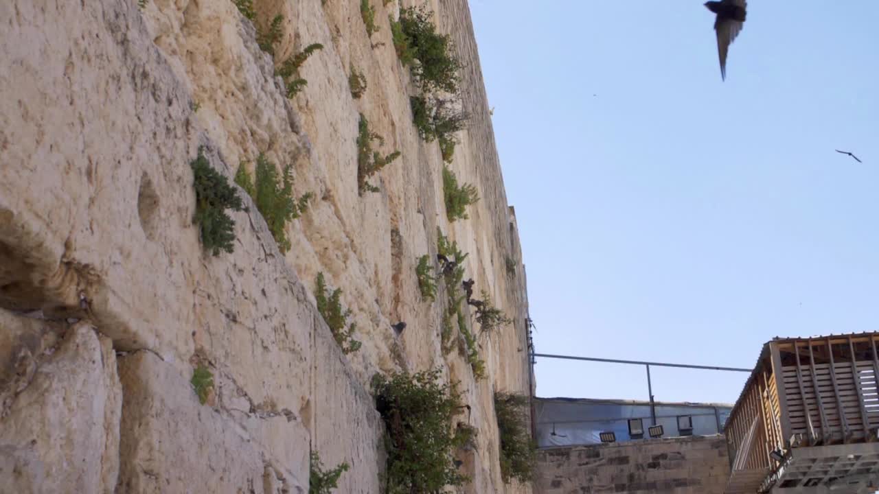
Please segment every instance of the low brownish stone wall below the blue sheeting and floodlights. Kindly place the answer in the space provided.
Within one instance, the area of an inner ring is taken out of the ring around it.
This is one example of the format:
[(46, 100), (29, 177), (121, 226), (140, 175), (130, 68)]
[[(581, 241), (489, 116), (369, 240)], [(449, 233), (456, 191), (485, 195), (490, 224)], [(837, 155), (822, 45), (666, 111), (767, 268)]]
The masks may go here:
[(534, 491), (723, 494), (730, 459), (723, 436), (541, 450)]

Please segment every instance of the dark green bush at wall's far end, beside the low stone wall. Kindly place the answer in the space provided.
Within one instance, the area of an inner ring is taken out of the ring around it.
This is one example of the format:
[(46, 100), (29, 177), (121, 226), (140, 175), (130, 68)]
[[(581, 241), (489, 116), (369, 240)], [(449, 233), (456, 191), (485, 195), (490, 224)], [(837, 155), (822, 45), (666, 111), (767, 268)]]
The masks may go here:
[(534, 479), (537, 446), (528, 427), (528, 396), (496, 392), (495, 414), (500, 436), (500, 472), (504, 482), (512, 478), (527, 483)]

